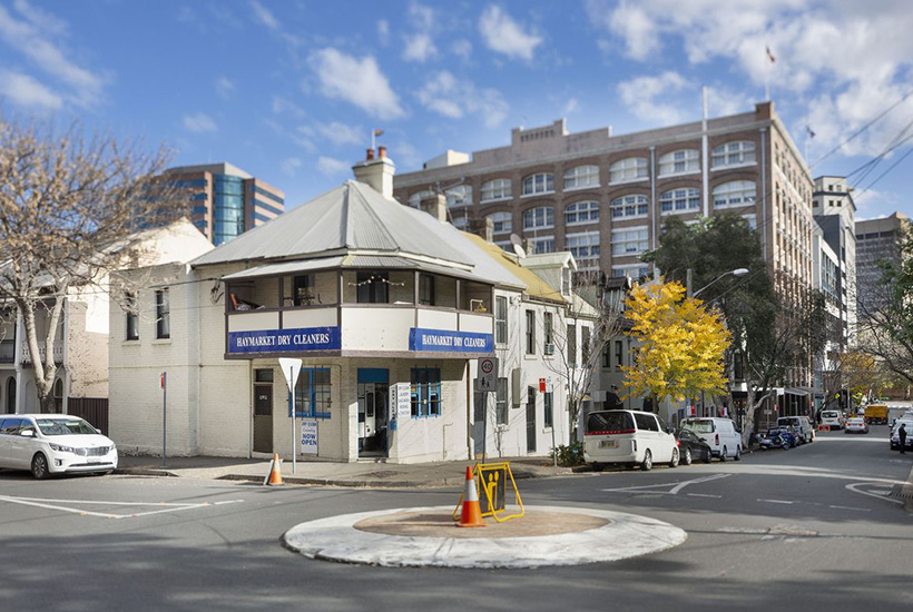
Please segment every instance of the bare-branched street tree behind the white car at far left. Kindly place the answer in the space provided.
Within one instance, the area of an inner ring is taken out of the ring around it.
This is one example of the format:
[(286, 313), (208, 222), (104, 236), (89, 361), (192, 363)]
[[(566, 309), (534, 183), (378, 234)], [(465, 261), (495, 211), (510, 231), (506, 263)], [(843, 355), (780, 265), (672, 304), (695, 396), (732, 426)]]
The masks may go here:
[[(71, 292), (107, 292), (118, 268), (141, 255), (135, 230), (187, 210), (186, 194), (157, 178), (165, 149), (58, 131), (0, 117), (0, 297), (21, 316), (42, 412), (53, 412), (53, 344)], [(7, 325), (9, 327), (9, 325)]]

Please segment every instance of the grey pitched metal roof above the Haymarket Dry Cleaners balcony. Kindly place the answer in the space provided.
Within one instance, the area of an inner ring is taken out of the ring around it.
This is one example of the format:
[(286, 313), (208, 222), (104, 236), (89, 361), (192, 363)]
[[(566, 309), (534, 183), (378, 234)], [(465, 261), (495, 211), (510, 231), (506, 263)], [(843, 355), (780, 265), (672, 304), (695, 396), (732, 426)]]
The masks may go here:
[[(233, 261), (308, 258), (351, 250), (410, 254), (442, 263), (472, 266), (441, 231), (426, 223), (426, 213), (402, 206), (361, 182), (342, 186), (245, 231), (230, 243), (194, 259), (193, 266)], [(431, 230), (429, 230), (431, 228)]]

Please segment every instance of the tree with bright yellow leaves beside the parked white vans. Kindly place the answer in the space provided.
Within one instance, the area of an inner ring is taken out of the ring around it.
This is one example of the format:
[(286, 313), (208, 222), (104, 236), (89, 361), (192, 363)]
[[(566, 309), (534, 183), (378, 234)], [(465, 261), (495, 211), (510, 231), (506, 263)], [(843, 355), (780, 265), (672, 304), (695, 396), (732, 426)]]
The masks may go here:
[(720, 315), (685, 296), (678, 283), (634, 287), (625, 316), (640, 340), (636, 362), (624, 367), (628, 396), (648, 395), (652, 405), (703, 392), (721, 392), (727, 383), (724, 355), (732, 343)]

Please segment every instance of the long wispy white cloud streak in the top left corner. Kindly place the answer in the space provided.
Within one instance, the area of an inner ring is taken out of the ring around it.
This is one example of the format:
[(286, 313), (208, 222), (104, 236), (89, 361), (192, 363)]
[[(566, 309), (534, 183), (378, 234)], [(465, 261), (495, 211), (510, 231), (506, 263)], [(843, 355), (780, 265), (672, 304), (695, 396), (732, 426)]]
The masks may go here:
[(104, 79), (77, 66), (69, 59), (71, 53), (60, 47), (66, 23), (26, 2), (17, 2), (14, 8), (24, 20), (16, 19), (0, 6), (0, 40), (48, 76), (62, 81), (70, 90), (67, 98), (75, 103), (84, 107), (98, 103)]

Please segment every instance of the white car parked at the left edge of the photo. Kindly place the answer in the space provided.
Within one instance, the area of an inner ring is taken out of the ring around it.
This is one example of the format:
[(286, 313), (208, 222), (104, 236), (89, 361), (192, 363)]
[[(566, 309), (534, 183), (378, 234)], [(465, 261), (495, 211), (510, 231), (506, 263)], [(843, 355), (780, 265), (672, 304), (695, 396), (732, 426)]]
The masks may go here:
[(86, 421), (63, 414), (0, 417), (0, 467), (29, 470), (39, 480), (117, 467), (115, 443)]

